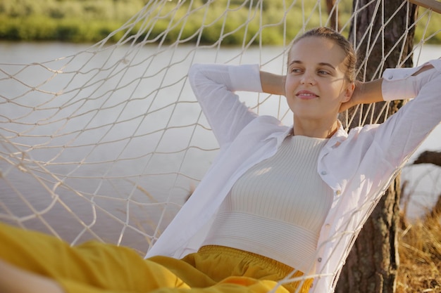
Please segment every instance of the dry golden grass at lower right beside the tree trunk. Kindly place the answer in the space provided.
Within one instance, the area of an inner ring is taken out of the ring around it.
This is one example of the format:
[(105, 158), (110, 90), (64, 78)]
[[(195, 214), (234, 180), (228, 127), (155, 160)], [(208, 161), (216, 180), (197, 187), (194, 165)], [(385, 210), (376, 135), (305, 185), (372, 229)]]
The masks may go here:
[(402, 216), (397, 293), (441, 292), (441, 195), (414, 223)]

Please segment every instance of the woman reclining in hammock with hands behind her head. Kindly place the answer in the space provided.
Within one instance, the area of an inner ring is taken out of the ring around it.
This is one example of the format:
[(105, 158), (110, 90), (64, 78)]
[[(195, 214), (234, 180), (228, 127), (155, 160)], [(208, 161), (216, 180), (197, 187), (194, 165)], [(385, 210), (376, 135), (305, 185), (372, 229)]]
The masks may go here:
[[(257, 65), (194, 65), (190, 83), (221, 151), (147, 259), (124, 247), (71, 248), (1, 227), (8, 240), (0, 246), (0, 285), (23, 285), (23, 292), (332, 292), (354, 233), (441, 121), (440, 61), (356, 83), (349, 42), (318, 28), (294, 40), (285, 76)], [(234, 91), (286, 96), (293, 126), (259, 117)], [(352, 105), (415, 96), (381, 125), (347, 134), (337, 119)], [(37, 243), (23, 245), (31, 238)], [(35, 249), (47, 251), (44, 259)], [(57, 264), (60, 256), (68, 265)], [(11, 282), (15, 276), (26, 281)]]

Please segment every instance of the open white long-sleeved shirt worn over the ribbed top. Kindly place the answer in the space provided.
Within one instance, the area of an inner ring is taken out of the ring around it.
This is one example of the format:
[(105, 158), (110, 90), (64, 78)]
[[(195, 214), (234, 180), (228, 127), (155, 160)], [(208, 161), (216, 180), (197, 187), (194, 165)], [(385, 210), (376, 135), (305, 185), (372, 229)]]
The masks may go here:
[[(333, 292), (337, 277), (361, 226), (397, 171), (441, 122), (441, 60), (411, 77), (419, 67), (388, 69), (383, 98), (414, 98), (383, 124), (340, 129), (318, 157), (317, 171), (334, 198), (321, 228), (316, 275), (310, 292)], [(258, 116), (234, 91), (262, 91), (258, 65), (193, 65), (190, 84), (220, 152), (190, 200), (147, 252), (180, 258), (196, 252), (213, 215), (244, 171), (275, 154), (292, 127)]]

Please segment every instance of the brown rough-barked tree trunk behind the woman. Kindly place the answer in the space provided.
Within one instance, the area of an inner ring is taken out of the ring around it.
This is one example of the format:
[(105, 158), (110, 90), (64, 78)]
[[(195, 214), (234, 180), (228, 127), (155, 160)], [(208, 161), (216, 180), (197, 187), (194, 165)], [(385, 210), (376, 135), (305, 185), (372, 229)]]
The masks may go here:
[[(381, 32), (381, 11), (384, 9), (384, 22), (395, 13), (402, 0), (378, 1), (368, 5), (368, 0), (354, 0), (354, 11), (366, 6), (366, 9), (356, 14), (351, 26), (349, 39), (353, 44), (357, 44), (357, 58), (364, 61), (366, 66), (362, 67), (359, 79), (371, 80), (380, 77), (383, 70), (387, 67), (396, 67), (400, 63), (401, 48), (404, 47), (402, 56), (407, 56), (413, 47), (414, 30), (409, 31), (407, 37), (399, 40), (406, 29), (406, 21), (413, 23), (416, 18), (417, 7), (410, 5), (410, 11), (404, 6), (396, 15), (393, 16), (384, 29), (384, 39), (380, 36), (375, 44), (368, 44), (368, 38), (363, 38), (365, 32), (372, 30), (371, 41), (375, 39), (377, 32)], [(386, 5), (385, 5), (386, 3)], [(357, 5), (357, 7), (356, 7)], [(375, 12), (378, 9), (378, 12)], [(370, 29), (369, 25), (373, 24)], [(355, 42), (354, 42), (355, 40)], [(404, 42), (404, 44), (403, 44)], [(398, 43), (398, 44), (397, 44)], [(397, 46), (395, 46), (397, 44)], [(395, 48), (394, 48), (395, 46)], [(372, 50), (372, 51), (371, 51)], [(368, 53), (370, 52), (371, 53)], [(377, 69), (381, 60), (387, 56), (384, 68)], [(368, 56), (367, 56), (368, 55)], [(404, 63), (406, 67), (412, 66), (409, 58)], [(387, 115), (396, 112), (402, 105), (400, 101), (392, 103)], [(366, 107), (365, 107), (366, 108)], [(375, 105), (374, 112), (378, 112), (382, 105)], [(365, 114), (366, 115), (366, 111)], [(376, 114), (375, 114), (376, 115)], [(374, 116), (376, 117), (376, 116)], [(385, 119), (379, 120), (382, 122)], [(359, 119), (354, 119), (354, 125), (358, 124)], [(337, 283), (335, 292), (337, 293), (393, 293), (396, 287), (397, 268), (399, 257), (397, 252), (397, 226), (399, 223), (399, 197), (400, 183), (399, 177), (390, 185), (385, 195), (378, 202), (373, 213), (361, 230), (354, 247), (349, 254), (340, 280)]]

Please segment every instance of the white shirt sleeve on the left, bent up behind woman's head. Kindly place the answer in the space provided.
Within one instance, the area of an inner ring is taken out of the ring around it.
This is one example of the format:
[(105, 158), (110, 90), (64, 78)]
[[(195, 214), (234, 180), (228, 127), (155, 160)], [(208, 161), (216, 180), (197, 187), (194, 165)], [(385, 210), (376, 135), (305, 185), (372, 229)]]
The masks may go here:
[(257, 117), (235, 91), (262, 91), (259, 65), (195, 64), (189, 79), (221, 148)]

